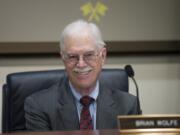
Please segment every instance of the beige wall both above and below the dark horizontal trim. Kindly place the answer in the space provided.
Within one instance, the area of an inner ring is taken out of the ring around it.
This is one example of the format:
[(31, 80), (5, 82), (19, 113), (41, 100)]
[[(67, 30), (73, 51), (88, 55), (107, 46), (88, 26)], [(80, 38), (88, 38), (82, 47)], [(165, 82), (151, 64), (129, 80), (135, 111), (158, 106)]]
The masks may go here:
[[(105, 40), (180, 39), (179, 0), (102, 1), (109, 8), (98, 23)], [(67, 23), (83, 18), (79, 9), (84, 3), (84, 0), (0, 0), (0, 42), (56, 42)], [(132, 64), (136, 71), (145, 114), (180, 113), (180, 55), (111, 56), (105, 67), (123, 68), (125, 64)], [(0, 57), (0, 85), (5, 83), (8, 73), (62, 67), (54, 57)], [(130, 91), (135, 91), (132, 82)]]

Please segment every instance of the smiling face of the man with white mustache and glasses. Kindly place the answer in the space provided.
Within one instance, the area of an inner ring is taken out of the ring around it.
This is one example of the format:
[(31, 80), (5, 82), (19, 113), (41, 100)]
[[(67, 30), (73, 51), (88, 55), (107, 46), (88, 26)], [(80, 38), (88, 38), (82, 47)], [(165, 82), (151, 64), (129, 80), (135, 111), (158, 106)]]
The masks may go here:
[(90, 36), (67, 38), (62, 54), (67, 74), (77, 90), (93, 89), (106, 59)]

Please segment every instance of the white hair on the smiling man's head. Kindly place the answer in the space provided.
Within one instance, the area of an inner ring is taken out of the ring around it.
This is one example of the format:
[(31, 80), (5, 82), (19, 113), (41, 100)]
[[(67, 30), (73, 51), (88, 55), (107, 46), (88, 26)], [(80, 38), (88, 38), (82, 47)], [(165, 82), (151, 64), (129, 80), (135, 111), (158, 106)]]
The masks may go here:
[(84, 31), (94, 38), (97, 47), (102, 48), (106, 45), (96, 24), (84, 20), (77, 20), (64, 28), (60, 37), (60, 49), (64, 50), (64, 42), (67, 37), (81, 37), (84, 35)]

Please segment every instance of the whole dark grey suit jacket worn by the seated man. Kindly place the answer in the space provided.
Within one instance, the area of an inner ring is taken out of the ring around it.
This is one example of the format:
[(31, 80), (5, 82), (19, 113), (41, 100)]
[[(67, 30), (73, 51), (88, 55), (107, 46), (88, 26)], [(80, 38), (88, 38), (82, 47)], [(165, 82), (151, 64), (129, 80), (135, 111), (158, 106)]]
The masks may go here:
[[(137, 114), (136, 98), (120, 90), (109, 89), (100, 82), (97, 98), (97, 129), (117, 128), (117, 115)], [(37, 92), (25, 100), (27, 130), (78, 130), (79, 118), (75, 98), (68, 80)]]

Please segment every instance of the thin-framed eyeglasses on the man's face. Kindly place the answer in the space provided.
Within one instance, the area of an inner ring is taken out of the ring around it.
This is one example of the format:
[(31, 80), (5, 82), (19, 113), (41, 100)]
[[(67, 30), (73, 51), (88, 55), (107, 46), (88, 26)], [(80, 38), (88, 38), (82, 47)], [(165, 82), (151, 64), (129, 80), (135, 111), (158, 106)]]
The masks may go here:
[(99, 56), (99, 52), (97, 51), (89, 51), (84, 53), (83, 55), (78, 55), (78, 54), (63, 54), (63, 59), (69, 63), (69, 64), (77, 64), (80, 60), (80, 56), (82, 56), (83, 61), (86, 63), (91, 63), (94, 60), (97, 59), (97, 56)]

